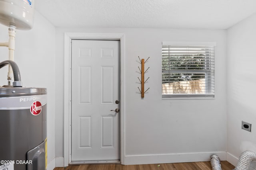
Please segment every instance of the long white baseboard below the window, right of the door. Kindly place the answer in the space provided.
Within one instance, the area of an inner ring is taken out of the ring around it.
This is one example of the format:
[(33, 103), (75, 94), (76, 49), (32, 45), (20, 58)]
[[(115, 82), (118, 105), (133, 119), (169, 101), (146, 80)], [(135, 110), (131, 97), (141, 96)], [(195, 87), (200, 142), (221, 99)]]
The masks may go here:
[(220, 160), (226, 160), (226, 152), (200, 152), (200, 153), (180, 153), (180, 154), (147, 154), (147, 155), (126, 155), (124, 165), (135, 164), (161, 164), (178, 162), (204, 162), (210, 161), (211, 156), (216, 154)]

